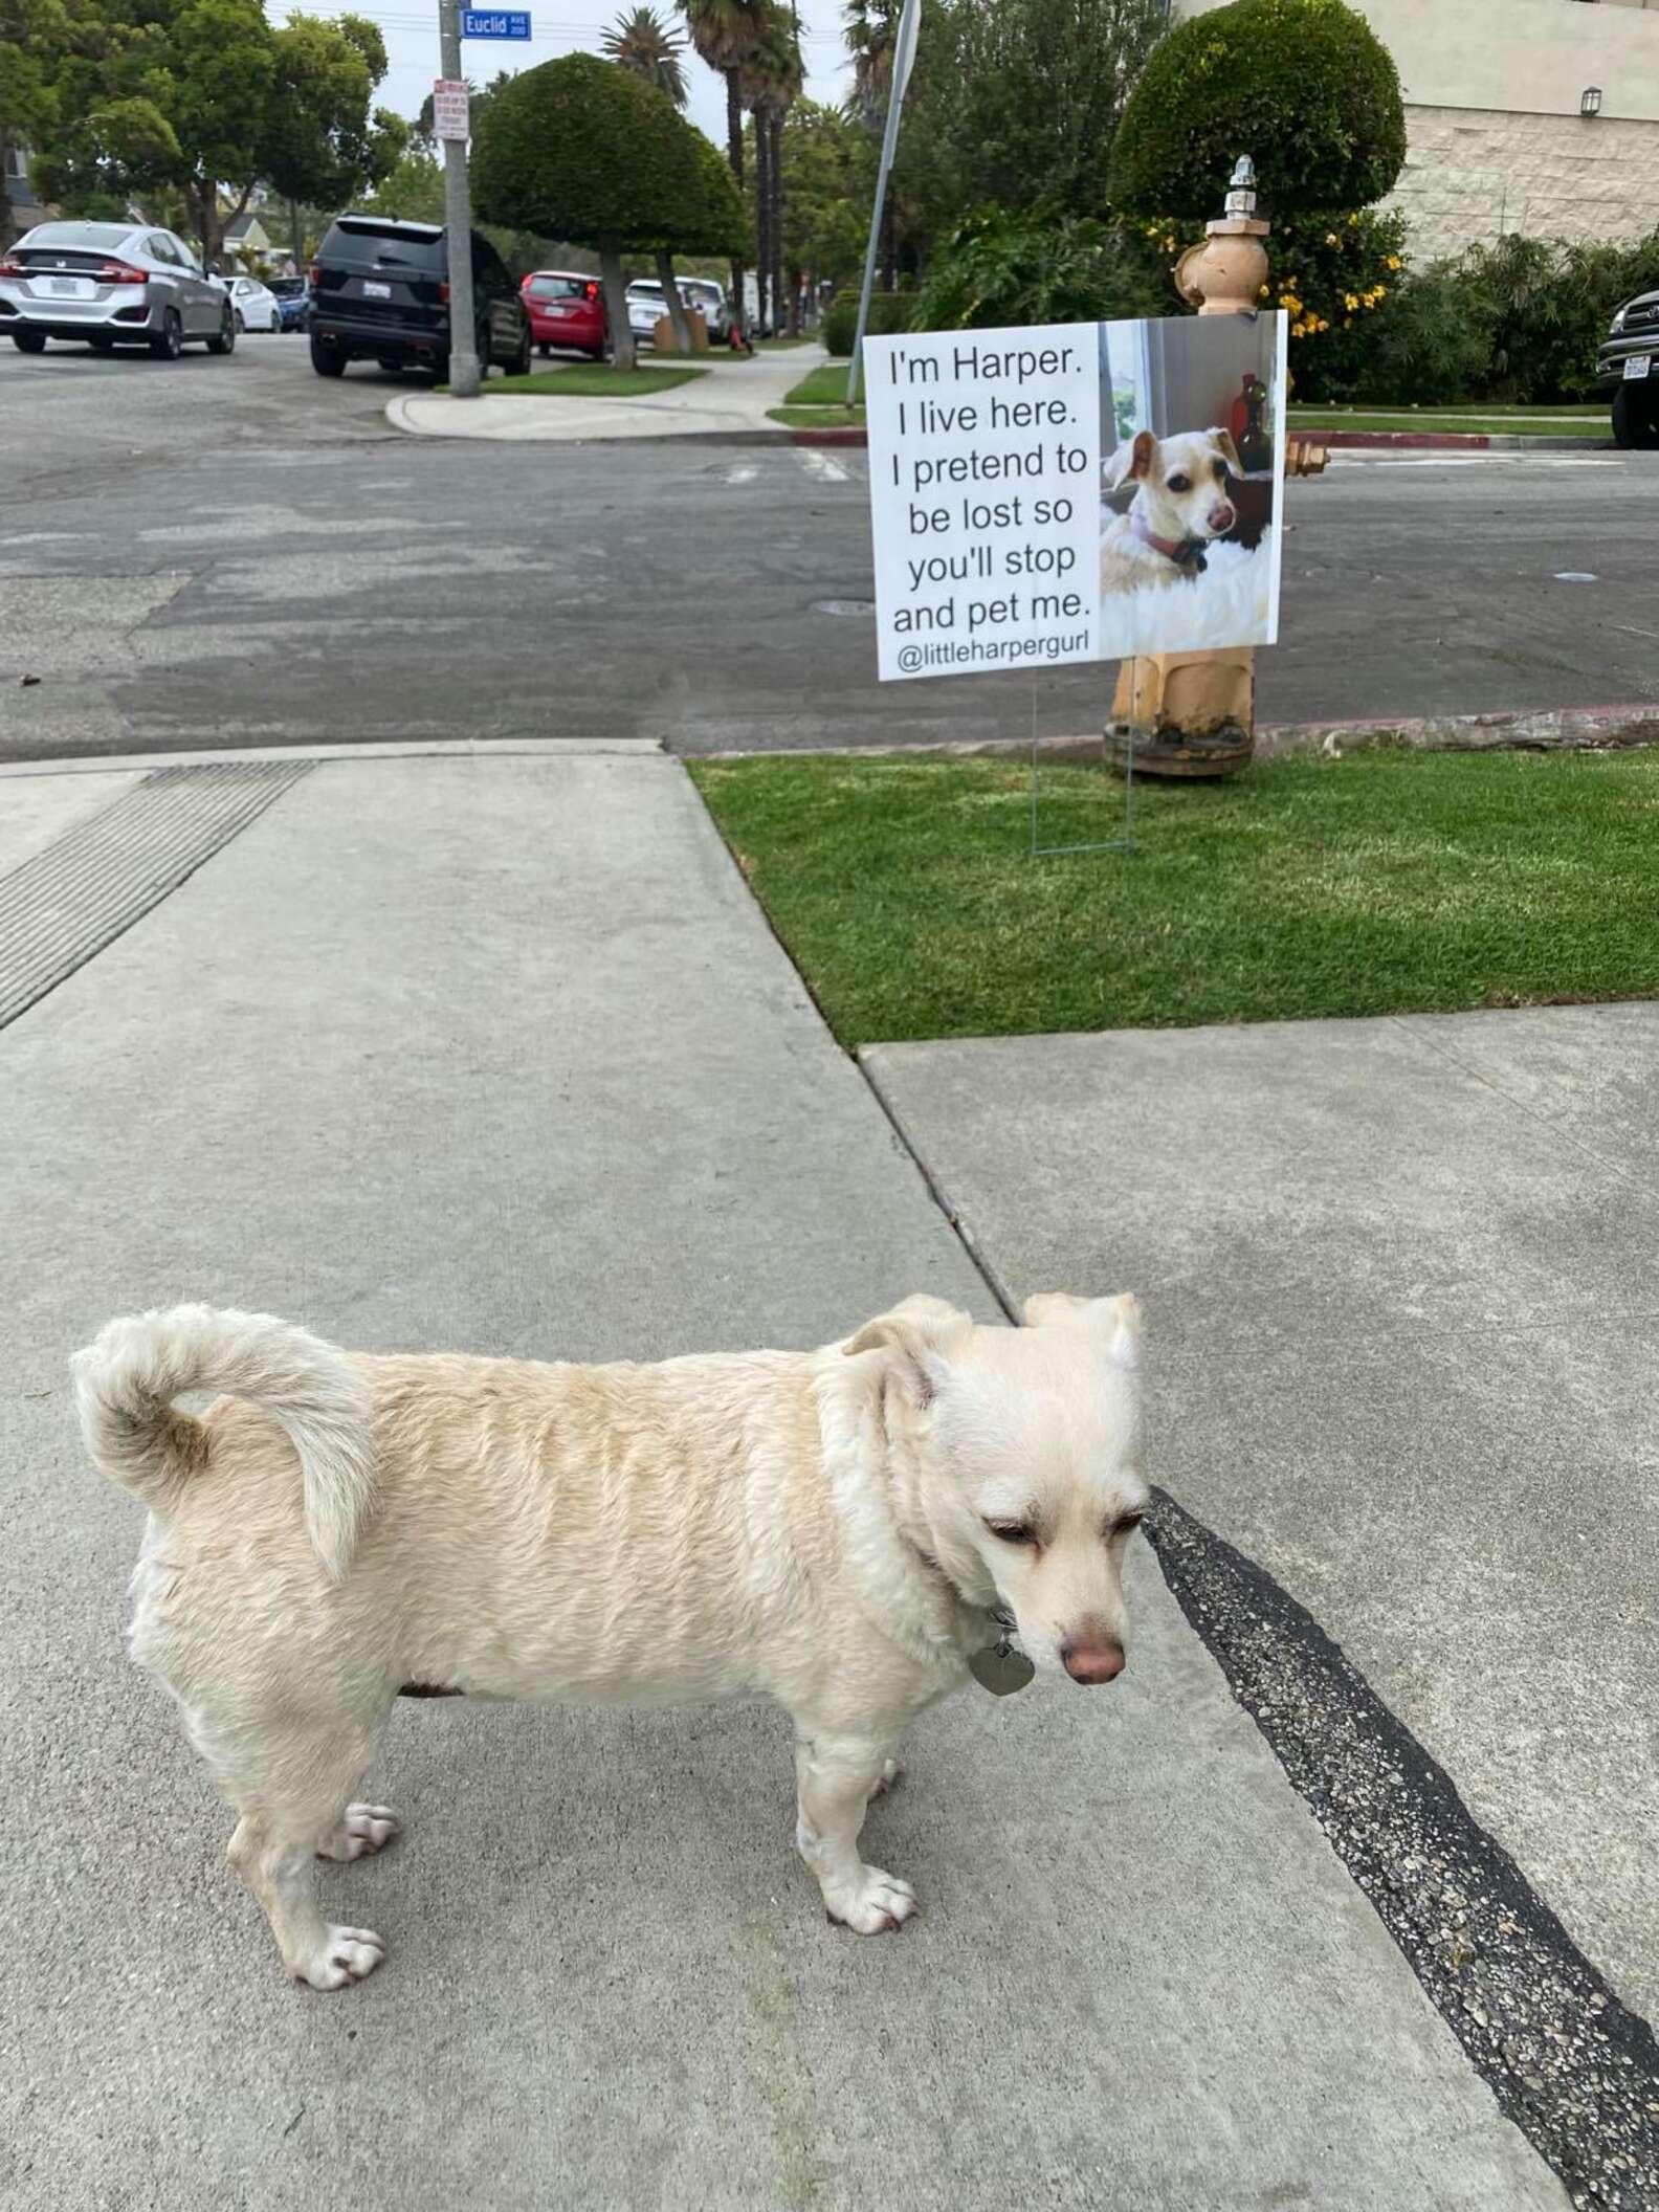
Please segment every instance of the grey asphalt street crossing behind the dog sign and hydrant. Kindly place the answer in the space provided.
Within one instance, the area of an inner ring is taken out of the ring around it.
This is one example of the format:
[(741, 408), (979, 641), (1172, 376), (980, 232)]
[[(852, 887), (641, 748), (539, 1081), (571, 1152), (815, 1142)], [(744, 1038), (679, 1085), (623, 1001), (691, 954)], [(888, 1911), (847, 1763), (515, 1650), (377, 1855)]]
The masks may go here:
[[(407, 383), (296, 336), (0, 349), (0, 759), (1102, 721), (1110, 668), (876, 684), (860, 451), (414, 440)], [(1659, 699), (1657, 491), (1650, 453), (1338, 458), (1287, 493), (1259, 717)]]

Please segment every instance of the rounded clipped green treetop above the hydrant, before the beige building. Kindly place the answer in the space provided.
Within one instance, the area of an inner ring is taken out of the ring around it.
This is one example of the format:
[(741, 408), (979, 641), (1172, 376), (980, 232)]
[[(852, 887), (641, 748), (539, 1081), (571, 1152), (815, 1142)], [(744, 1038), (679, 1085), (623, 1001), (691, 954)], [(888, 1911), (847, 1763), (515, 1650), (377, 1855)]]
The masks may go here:
[(1241, 153), (1263, 215), (1367, 208), (1391, 188), (1400, 75), (1343, 0), (1232, 0), (1177, 24), (1124, 108), (1110, 192), (1130, 215), (1210, 217)]

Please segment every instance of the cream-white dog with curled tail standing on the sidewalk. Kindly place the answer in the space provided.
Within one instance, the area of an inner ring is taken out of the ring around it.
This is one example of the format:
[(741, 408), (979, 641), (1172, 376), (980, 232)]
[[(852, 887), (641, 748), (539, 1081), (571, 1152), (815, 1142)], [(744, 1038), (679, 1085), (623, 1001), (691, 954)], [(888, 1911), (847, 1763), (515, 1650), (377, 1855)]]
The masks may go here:
[[(1040, 1296), (1026, 1329), (907, 1298), (821, 1352), (575, 1367), (336, 1352), (263, 1314), (113, 1321), (73, 1360), (95, 1464), (150, 1509), (133, 1655), (234, 1809), (283, 1964), (380, 1964), (312, 1854), (396, 1834), (352, 1803), (425, 1686), (794, 1717), (796, 1843), (832, 1920), (916, 1911), (858, 1858), (909, 1721), (969, 1674), (1124, 1666), (1139, 1307)], [(226, 1391), (204, 1416), (184, 1391)]]

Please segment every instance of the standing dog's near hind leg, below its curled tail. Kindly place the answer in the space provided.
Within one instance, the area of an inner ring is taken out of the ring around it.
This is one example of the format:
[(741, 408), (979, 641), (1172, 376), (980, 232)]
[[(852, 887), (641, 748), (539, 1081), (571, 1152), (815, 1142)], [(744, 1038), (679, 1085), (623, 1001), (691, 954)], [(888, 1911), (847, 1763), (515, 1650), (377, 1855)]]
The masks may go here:
[(354, 1714), (319, 1721), (261, 1732), (257, 1743), (243, 1741), (234, 1759), (215, 1759), (215, 1765), (219, 1787), (241, 1814), (230, 1865), (265, 1909), (283, 1966), (312, 1989), (345, 1989), (374, 1973), (385, 1944), (372, 1929), (323, 1920), (312, 1858), (349, 1838), (352, 1812), (380, 1814), (380, 1807), (347, 1812), (380, 1721), (376, 1717), (372, 1728)]

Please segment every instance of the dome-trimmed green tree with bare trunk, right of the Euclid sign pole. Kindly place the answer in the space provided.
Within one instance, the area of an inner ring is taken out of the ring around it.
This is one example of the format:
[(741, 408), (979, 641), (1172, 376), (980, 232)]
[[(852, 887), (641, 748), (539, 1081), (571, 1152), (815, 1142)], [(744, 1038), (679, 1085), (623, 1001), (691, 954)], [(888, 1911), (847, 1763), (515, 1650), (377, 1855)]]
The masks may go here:
[(617, 367), (635, 365), (622, 257), (699, 250), (714, 223), (699, 144), (666, 93), (593, 53), (526, 69), (478, 126), (478, 212), (595, 248)]

